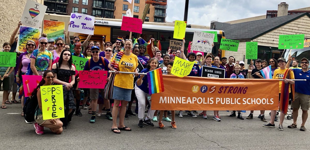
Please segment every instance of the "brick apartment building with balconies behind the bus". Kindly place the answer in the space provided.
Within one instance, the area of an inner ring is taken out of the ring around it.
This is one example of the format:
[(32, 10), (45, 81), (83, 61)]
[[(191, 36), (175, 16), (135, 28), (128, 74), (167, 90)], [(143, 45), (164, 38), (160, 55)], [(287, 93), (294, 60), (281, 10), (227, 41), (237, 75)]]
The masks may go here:
[[(133, 0), (135, 2), (135, 18), (142, 18), (145, 0)], [(122, 19), (126, 16), (126, 11), (131, 9), (132, 4), (126, 0), (44, 0), (47, 6), (46, 13), (55, 13), (59, 15), (70, 15), (82, 13), (95, 17)], [(166, 6), (150, 6), (145, 21), (147, 22), (165, 22)]]

